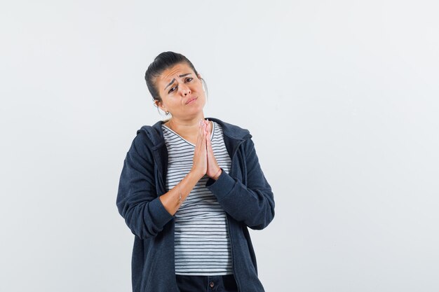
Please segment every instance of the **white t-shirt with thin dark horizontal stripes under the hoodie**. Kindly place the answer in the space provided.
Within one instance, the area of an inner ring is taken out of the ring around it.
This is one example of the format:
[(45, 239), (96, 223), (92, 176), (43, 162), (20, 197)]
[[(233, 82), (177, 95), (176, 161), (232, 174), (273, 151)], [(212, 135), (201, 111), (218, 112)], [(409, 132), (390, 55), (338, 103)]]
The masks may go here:
[[(231, 159), (224, 145), (221, 126), (213, 122), (210, 141), (219, 167), (229, 173)], [(162, 124), (168, 148), (167, 191), (186, 176), (195, 145)], [(175, 213), (175, 274), (233, 274), (226, 213), (215, 195), (205, 187), (204, 175)]]

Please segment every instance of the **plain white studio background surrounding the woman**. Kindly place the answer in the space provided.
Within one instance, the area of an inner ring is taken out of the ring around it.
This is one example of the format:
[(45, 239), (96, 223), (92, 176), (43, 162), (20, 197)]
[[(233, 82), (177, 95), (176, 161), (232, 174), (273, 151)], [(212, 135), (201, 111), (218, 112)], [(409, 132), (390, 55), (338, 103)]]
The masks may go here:
[(130, 291), (123, 159), (166, 50), (247, 128), (276, 291), (438, 291), (438, 1), (2, 1), (0, 291)]

